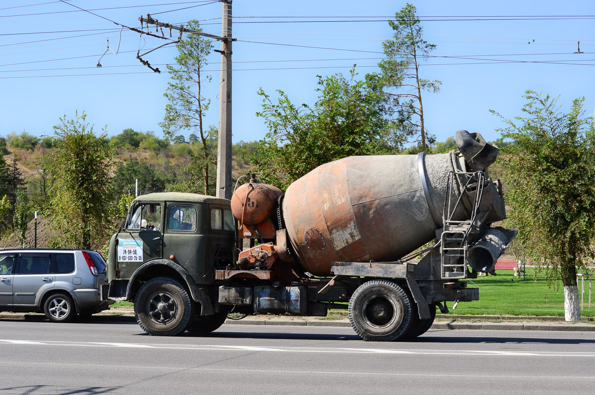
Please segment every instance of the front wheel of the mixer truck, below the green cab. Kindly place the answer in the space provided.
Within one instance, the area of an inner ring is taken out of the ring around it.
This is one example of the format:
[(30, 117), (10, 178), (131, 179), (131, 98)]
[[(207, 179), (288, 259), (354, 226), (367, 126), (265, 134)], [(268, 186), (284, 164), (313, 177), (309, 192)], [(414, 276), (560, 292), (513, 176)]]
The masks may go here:
[(179, 282), (157, 277), (136, 293), (134, 317), (148, 334), (176, 336), (186, 329), (192, 317), (192, 301)]

